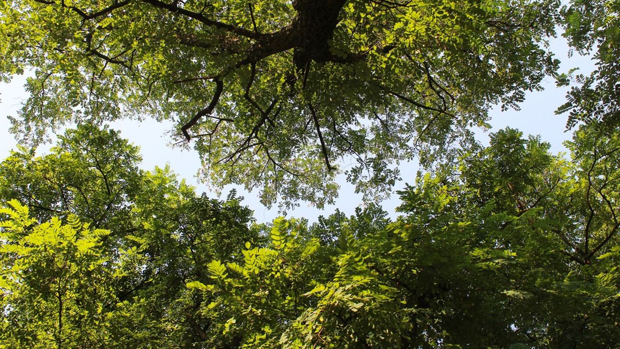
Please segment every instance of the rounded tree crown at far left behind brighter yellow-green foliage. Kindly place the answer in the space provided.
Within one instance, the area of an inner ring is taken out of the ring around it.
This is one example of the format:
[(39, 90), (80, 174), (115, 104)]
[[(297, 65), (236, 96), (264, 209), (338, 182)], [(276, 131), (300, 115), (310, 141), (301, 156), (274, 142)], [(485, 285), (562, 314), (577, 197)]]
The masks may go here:
[(12, 152), (0, 163), (0, 197), (27, 205), (39, 222), (75, 214), (125, 235), (144, 177), (139, 161), (138, 148), (119, 132), (82, 124), (60, 135), (49, 155), (35, 156), (25, 147)]

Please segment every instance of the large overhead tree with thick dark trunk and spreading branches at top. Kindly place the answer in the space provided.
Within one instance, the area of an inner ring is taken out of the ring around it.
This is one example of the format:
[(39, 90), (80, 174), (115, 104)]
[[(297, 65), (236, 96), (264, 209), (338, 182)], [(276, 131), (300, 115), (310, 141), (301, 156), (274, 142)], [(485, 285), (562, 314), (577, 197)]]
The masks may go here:
[(35, 69), (15, 134), (172, 119), (205, 178), (259, 188), (267, 205), (331, 202), (341, 156), (357, 164), (345, 173), (358, 191), (386, 193), (394, 163), (469, 139), (490, 106), (516, 107), (557, 66), (541, 47), (556, 0), (1, 6), (1, 76)]

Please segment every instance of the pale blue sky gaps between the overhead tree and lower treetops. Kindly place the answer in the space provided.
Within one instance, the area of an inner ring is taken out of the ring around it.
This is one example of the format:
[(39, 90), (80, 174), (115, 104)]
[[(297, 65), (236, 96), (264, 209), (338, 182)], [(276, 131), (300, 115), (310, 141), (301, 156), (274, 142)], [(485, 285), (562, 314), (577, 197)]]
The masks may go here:
[[(556, 53), (556, 58), (562, 61), (560, 72), (568, 71), (570, 68), (580, 68), (582, 73), (588, 73), (593, 69), (593, 63), (589, 57), (574, 55), (568, 57), (569, 48), (564, 39), (554, 39), (551, 49)], [(10, 123), (7, 116), (16, 116), (22, 101), (27, 98), (24, 91), (25, 76), (15, 76), (9, 84), (0, 83), (0, 159), (6, 158), (11, 149), (15, 148), (17, 142), (12, 134), (9, 133)], [(557, 116), (554, 111), (565, 101), (567, 88), (557, 88), (554, 79), (546, 78), (543, 81), (544, 91), (534, 91), (526, 95), (525, 102), (521, 104), (519, 111), (509, 110), (500, 111), (496, 107), (490, 111), (489, 132), (494, 132), (505, 127), (519, 129), (524, 135), (540, 135), (542, 140), (551, 143), (553, 153), (565, 152), (562, 143), (569, 140), (570, 132), (565, 132), (566, 115)], [(155, 166), (170, 165), (172, 170), (179, 174), (180, 178), (185, 178), (188, 183), (197, 187), (198, 193), (206, 192), (211, 197), (218, 197), (204, 183), (198, 182), (196, 173), (200, 168), (200, 158), (198, 153), (193, 150), (182, 150), (170, 147), (169, 138), (166, 132), (172, 129), (170, 122), (156, 122), (146, 119), (141, 122), (136, 120), (119, 120), (112, 122), (113, 129), (121, 131), (122, 137), (128, 138), (135, 145), (138, 145), (143, 157), (142, 168), (152, 170)], [(477, 132), (477, 138), (483, 144), (489, 142), (489, 132)], [(46, 145), (39, 148), (39, 153), (43, 154), (50, 148)], [(402, 180), (396, 184), (394, 191), (404, 188), (405, 183), (413, 183), (417, 173), (415, 163), (401, 165)], [(289, 217), (304, 217), (309, 222), (316, 222), (319, 215), (329, 215), (340, 209), (346, 214), (353, 214), (355, 207), (363, 205), (361, 195), (355, 194), (352, 184), (345, 181), (344, 176), (339, 177), (340, 191), (339, 198), (334, 205), (326, 205), (325, 209), (319, 210), (306, 202), (301, 202), (300, 206), (292, 211), (288, 211)], [(221, 197), (234, 188), (226, 186), (222, 191)], [(270, 222), (280, 215), (277, 205), (272, 209), (267, 209), (260, 204), (258, 193), (247, 193), (240, 187), (236, 187), (237, 193), (244, 197), (242, 202), (250, 209), (254, 210), (254, 216), (258, 222)], [(394, 218), (394, 209), (399, 206), (400, 201), (396, 194), (381, 202), (381, 206), (389, 215)]]

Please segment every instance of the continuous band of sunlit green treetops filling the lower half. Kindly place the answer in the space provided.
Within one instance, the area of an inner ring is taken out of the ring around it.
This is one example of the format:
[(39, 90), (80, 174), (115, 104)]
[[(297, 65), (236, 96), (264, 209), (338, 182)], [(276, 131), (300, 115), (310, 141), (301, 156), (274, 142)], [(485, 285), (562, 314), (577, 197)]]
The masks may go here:
[[(135, 150), (81, 127), (69, 150), (2, 166), (53, 178), (84, 138), (117, 145), (94, 158)], [(368, 206), (312, 225), (250, 225), (234, 193), (208, 200), (166, 170), (136, 170), (128, 209), (80, 220), (85, 202), (107, 206), (94, 166), (33, 197), (0, 171), (16, 184), (0, 210), (0, 347), (618, 348), (620, 138), (582, 127), (569, 148), (501, 130), (420, 174), (397, 219)], [(86, 199), (49, 199), (86, 183)]]

